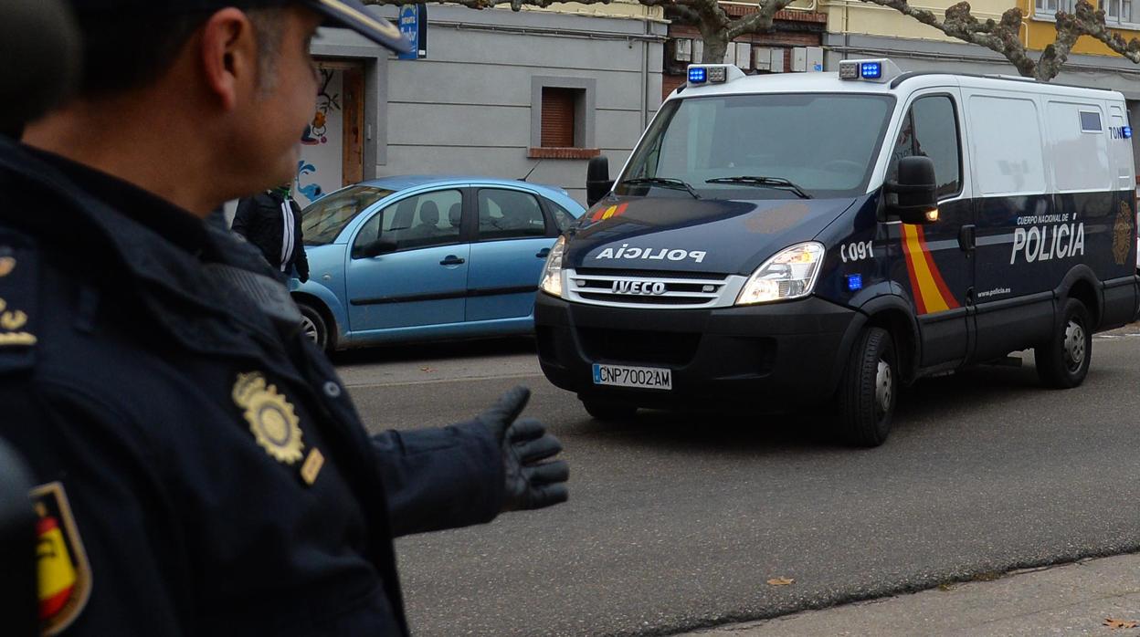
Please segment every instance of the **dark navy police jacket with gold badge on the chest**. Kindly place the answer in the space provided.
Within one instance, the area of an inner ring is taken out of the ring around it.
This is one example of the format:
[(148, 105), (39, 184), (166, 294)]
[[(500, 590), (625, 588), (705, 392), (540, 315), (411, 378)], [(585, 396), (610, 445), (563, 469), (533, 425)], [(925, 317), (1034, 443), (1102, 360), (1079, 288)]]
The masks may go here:
[(392, 537), (497, 514), (486, 427), (369, 435), (247, 245), (2, 141), (0, 183), (0, 436), (41, 484), (48, 622), (406, 634)]

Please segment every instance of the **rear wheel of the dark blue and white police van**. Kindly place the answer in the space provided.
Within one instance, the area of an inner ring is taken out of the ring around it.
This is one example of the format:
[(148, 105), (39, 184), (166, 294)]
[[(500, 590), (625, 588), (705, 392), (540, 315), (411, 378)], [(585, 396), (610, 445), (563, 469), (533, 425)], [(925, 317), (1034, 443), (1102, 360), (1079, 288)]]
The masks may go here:
[(1092, 319), (1084, 303), (1065, 300), (1053, 335), (1033, 349), (1033, 358), (1047, 387), (1067, 390), (1084, 382), (1092, 362)]

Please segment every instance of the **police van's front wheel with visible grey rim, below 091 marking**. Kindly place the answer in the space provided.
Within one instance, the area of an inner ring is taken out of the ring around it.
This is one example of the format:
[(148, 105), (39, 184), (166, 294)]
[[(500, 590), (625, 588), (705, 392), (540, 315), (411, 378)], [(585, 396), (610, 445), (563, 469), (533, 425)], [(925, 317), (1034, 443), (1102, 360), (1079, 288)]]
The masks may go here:
[(886, 442), (898, 402), (898, 357), (890, 333), (881, 327), (864, 329), (839, 381), (839, 438), (856, 447)]

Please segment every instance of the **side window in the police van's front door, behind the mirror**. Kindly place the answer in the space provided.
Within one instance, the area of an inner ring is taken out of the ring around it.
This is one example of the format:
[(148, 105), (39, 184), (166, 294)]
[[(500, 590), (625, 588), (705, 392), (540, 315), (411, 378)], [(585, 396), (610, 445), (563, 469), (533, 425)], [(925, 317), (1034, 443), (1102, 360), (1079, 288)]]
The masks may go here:
[(903, 157), (930, 157), (938, 198), (956, 195), (962, 189), (960, 148), (954, 101), (946, 96), (919, 98), (903, 120), (887, 179), (898, 177), (898, 161)]

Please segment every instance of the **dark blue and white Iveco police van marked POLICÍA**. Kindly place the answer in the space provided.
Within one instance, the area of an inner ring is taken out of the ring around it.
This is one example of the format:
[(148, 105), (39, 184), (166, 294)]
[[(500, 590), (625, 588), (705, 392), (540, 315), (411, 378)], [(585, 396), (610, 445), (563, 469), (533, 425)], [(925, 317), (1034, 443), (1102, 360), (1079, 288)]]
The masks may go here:
[(881, 444), (898, 390), (1033, 349), (1080, 385), (1138, 312), (1118, 92), (1007, 76), (693, 65), (552, 250), (543, 371), (598, 419), (831, 405)]

